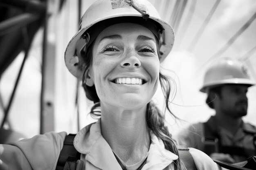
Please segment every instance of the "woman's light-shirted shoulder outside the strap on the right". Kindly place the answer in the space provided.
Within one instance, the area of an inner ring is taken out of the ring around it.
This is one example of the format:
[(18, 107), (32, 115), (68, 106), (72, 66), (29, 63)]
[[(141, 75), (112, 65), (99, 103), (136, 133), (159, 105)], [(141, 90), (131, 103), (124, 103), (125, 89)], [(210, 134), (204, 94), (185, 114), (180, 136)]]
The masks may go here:
[(217, 163), (215, 163), (204, 152), (195, 148), (189, 148), (189, 152), (191, 153), (195, 162), (195, 166), (198, 170), (218, 170), (219, 169)]

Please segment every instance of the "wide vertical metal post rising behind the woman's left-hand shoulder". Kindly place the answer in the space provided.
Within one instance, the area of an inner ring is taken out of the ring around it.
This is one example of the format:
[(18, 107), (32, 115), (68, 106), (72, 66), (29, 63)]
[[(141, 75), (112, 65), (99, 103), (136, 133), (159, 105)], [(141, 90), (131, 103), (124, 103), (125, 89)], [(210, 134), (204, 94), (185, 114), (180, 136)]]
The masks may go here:
[(43, 40), (40, 134), (54, 131), (56, 32), (59, 0), (47, 0)]

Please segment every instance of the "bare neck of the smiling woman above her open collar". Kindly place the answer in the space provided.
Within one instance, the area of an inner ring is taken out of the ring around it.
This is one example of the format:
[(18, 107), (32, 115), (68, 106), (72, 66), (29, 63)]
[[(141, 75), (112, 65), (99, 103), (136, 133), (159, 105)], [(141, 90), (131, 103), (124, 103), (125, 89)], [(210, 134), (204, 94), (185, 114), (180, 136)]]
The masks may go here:
[(146, 106), (136, 110), (101, 106), (101, 114), (101, 133), (122, 161), (132, 165), (144, 159), (150, 146)]

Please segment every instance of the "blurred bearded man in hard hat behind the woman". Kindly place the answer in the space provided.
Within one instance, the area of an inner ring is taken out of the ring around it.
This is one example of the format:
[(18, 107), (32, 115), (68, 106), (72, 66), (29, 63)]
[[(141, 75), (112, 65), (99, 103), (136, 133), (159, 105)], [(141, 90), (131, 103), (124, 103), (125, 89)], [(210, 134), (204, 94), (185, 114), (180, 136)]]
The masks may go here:
[(256, 155), (256, 127), (242, 120), (247, 115), (247, 89), (254, 85), (238, 60), (225, 57), (214, 62), (200, 91), (207, 93), (206, 103), (216, 115), (183, 130), (177, 136), (178, 143), (227, 163)]

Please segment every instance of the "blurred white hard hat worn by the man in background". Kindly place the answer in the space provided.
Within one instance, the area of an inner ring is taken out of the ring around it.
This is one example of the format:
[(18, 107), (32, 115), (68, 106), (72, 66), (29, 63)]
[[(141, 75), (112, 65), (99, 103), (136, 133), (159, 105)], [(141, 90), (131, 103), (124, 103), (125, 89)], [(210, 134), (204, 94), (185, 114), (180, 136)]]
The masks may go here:
[(211, 64), (204, 75), (204, 84), (201, 92), (207, 93), (207, 89), (221, 84), (256, 84), (248, 74), (247, 68), (240, 61), (222, 57)]

